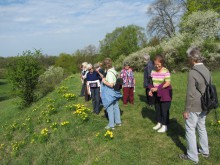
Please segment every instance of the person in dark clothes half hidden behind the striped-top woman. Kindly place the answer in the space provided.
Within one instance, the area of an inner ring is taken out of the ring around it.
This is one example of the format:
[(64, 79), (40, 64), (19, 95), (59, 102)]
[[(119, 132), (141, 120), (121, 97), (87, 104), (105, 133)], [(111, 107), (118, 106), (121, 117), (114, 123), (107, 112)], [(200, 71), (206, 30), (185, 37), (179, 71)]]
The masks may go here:
[(155, 70), (154, 63), (150, 59), (150, 55), (146, 54), (144, 55), (144, 59), (146, 61), (146, 66), (144, 67), (144, 88), (146, 89), (146, 98), (147, 98), (147, 104), (148, 105), (154, 105), (154, 97), (149, 96), (149, 88), (148, 85), (152, 85), (152, 77), (151, 77), (151, 71)]

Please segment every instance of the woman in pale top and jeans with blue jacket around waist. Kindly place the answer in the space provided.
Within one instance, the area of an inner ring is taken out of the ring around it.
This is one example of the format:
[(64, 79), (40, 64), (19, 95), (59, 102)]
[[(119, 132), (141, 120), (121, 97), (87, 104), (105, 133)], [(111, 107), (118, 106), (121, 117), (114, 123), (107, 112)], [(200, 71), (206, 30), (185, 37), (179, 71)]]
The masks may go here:
[(122, 97), (119, 91), (115, 91), (113, 86), (116, 83), (117, 72), (112, 66), (112, 60), (106, 58), (104, 65), (107, 70), (106, 78), (102, 78), (101, 97), (104, 108), (108, 113), (108, 125), (105, 129), (115, 129), (115, 126), (121, 126), (120, 109), (118, 100)]

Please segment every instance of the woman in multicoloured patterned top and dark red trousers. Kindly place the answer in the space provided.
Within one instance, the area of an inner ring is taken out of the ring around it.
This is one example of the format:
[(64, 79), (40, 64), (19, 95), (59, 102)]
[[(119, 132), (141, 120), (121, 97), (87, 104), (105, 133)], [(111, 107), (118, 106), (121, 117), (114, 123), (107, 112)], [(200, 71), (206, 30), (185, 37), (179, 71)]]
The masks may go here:
[(130, 68), (128, 62), (124, 63), (124, 68), (121, 70), (120, 77), (123, 80), (123, 104), (127, 106), (128, 101), (130, 104), (134, 104), (135, 78), (134, 72)]

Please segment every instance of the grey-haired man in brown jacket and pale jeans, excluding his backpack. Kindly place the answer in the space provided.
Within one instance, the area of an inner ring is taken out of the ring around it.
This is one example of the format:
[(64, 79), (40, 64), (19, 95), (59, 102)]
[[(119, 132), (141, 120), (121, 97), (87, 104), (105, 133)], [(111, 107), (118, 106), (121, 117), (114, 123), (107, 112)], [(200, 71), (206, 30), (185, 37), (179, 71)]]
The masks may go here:
[[(185, 111), (183, 117), (185, 119), (187, 153), (179, 154), (179, 157), (184, 160), (191, 160), (194, 163), (199, 162), (198, 154), (203, 157), (209, 157), (208, 136), (206, 132), (206, 112), (202, 111), (201, 93), (205, 92), (205, 81), (203, 77), (196, 71), (200, 71), (207, 82), (211, 76), (209, 70), (202, 63), (201, 52), (197, 47), (191, 47), (187, 50), (188, 61), (192, 69), (188, 74), (188, 85), (186, 94)], [(194, 70), (196, 69), (196, 70)], [(199, 90), (197, 89), (197, 86)], [(200, 148), (197, 147), (196, 130), (199, 135)]]

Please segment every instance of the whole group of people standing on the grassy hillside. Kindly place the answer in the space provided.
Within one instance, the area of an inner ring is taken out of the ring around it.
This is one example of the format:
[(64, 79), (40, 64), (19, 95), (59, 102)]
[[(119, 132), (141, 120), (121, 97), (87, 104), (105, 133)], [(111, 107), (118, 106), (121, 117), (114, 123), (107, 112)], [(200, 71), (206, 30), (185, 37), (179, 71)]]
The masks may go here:
[[(187, 51), (187, 57), (191, 70), (188, 75), (188, 85), (186, 94), (185, 111), (183, 117), (185, 119), (187, 152), (179, 154), (184, 160), (191, 160), (198, 163), (198, 154), (209, 157), (208, 137), (205, 127), (206, 112), (201, 106), (201, 91), (205, 91), (206, 85), (203, 77), (195, 71), (202, 72), (207, 80), (210, 81), (211, 76), (209, 70), (202, 63), (202, 55), (197, 47), (191, 47)], [(156, 110), (156, 125), (153, 127), (159, 133), (168, 130), (170, 107), (172, 101), (172, 85), (171, 74), (165, 67), (165, 60), (162, 55), (156, 55), (150, 60), (149, 55), (144, 58), (148, 60), (144, 68), (144, 87), (146, 88), (146, 98), (149, 105), (154, 105)], [(90, 95), (93, 103), (94, 113), (100, 112), (100, 103), (102, 102), (107, 111), (109, 123), (106, 129), (114, 129), (115, 126), (121, 126), (119, 99), (122, 97), (119, 91), (115, 91), (113, 86), (117, 77), (123, 80), (123, 105), (127, 106), (128, 102), (134, 104), (135, 78), (129, 63), (124, 63), (124, 68), (120, 74), (117, 73), (112, 66), (112, 61), (106, 58), (102, 64), (82, 64), (82, 91), (81, 95)], [(199, 88), (199, 89), (198, 89)], [(86, 100), (88, 101), (88, 100)], [(196, 130), (199, 135), (199, 149), (196, 142)]]

